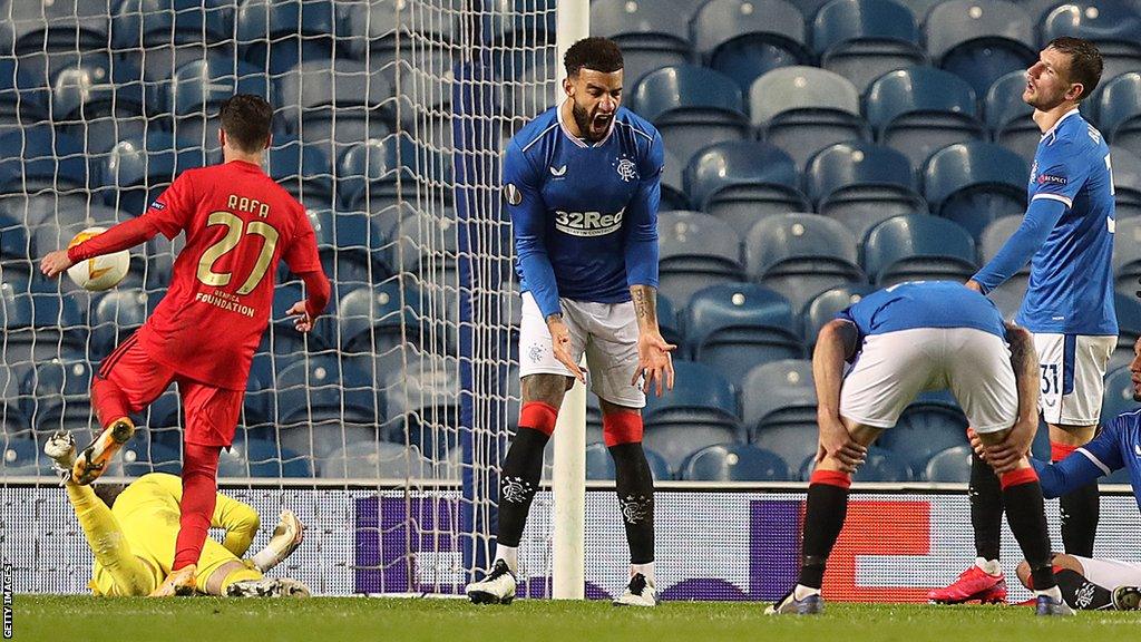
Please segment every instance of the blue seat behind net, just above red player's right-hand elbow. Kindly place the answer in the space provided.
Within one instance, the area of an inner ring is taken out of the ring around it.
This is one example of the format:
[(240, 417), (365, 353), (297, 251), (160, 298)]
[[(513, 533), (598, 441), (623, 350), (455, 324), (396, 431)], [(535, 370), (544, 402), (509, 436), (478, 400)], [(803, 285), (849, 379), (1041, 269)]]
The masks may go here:
[(317, 252), (330, 280), (345, 286), (379, 283), (394, 273), (380, 230), (364, 212), (309, 210)]

